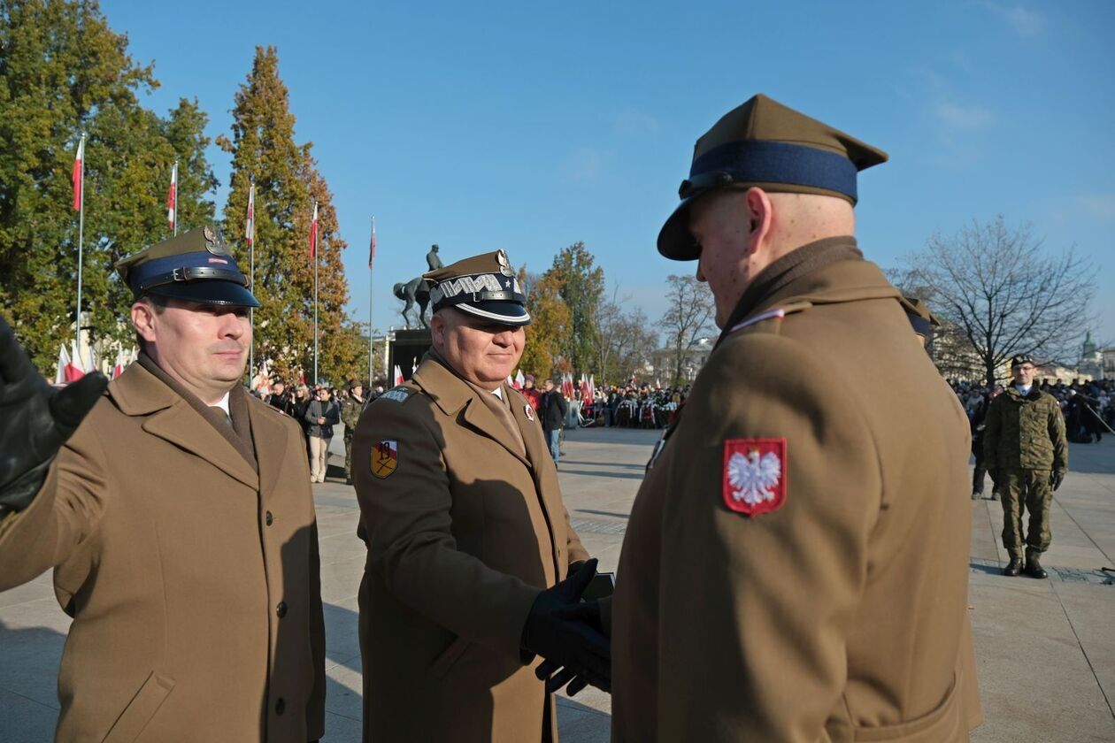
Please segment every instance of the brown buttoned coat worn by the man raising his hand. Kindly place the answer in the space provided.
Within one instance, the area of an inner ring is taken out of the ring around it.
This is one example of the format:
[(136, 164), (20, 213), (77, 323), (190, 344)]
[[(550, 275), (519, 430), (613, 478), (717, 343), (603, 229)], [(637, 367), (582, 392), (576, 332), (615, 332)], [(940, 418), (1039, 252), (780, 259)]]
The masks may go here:
[(304, 444), (291, 419), (244, 397), (259, 475), (133, 364), (31, 506), (0, 521), (0, 590), (54, 567), (74, 617), (58, 741), (322, 735), (324, 625)]

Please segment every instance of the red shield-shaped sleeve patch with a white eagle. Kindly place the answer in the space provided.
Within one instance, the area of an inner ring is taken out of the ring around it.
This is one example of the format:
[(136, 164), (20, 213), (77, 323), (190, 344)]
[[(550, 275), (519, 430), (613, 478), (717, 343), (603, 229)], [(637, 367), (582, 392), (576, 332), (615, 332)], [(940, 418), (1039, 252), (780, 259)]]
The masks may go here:
[(724, 442), (724, 504), (745, 516), (769, 514), (786, 502), (786, 439)]

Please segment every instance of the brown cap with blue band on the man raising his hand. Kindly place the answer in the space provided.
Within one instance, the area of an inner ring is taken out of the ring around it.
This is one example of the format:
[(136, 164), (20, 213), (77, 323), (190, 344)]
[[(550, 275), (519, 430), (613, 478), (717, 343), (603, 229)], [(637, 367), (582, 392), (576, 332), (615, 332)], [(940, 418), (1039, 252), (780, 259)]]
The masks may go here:
[(116, 263), (116, 271), (136, 300), (157, 294), (203, 304), (260, 306), (221, 232), (210, 225), (129, 255)]

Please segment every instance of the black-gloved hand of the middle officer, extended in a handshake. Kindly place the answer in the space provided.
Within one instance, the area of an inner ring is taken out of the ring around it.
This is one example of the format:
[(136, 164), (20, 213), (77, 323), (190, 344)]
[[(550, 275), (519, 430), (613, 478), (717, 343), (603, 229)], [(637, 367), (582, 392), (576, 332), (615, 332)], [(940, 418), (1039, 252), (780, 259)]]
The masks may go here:
[[(582, 616), (566, 615), (569, 609), (578, 608), (581, 594), (595, 574), (597, 560), (591, 559), (553, 588), (539, 594), (526, 615), (522, 645), (551, 661), (554, 666), (561, 666), (573, 676), (582, 676), (593, 686), (608, 691), (611, 688), (608, 637), (599, 629), (599, 622), (598, 627), (593, 627)], [(553, 683), (547, 683), (547, 688), (550, 686)], [(578, 691), (580, 688), (583, 685)]]

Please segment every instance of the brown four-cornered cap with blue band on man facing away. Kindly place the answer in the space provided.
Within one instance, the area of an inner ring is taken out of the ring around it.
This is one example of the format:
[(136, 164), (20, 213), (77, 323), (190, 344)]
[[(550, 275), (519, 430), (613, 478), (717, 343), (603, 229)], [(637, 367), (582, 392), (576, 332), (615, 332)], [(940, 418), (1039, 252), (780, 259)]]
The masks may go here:
[(856, 173), (886, 162), (886, 153), (759, 94), (728, 111), (694, 147), (681, 204), (662, 225), (658, 252), (694, 261), (689, 207), (717, 188), (837, 196), (855, 205)]

